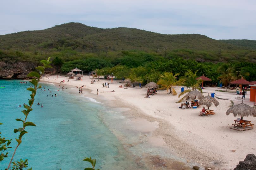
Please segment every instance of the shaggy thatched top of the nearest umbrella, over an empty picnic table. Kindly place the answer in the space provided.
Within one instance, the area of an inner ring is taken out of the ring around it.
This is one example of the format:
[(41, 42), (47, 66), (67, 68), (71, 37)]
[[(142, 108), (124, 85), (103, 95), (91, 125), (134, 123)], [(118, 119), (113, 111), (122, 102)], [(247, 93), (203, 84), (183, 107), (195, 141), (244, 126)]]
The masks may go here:
[(240, 104), (236, 104), (234, 106), (232, 106), (231, 108), (229, 108), (226, 112), (226, 115), (229, 115), (230, 113), (232, 113), (235, 117), (241, 116), (241, 119), (243, 119), (243, 116), (249, 116), (252, 115), (253, 117), (256, 117), (256, 110), (255, 108), (244, 104), (243, 100), (242, 103)]

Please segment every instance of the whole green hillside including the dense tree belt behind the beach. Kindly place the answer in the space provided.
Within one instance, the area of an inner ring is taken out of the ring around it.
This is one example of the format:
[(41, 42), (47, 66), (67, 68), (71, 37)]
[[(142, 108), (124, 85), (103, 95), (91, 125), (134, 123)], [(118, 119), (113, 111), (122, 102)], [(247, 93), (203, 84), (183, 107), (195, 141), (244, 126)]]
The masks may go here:
[[(143, 82), (157, 81), (164, 72), (188, 69), (218, 82), (222, 63), (256, 79), (256, 46), (252, 40), (215, 40), (199, 34), (166, 35), (135, 28), (101, 29), (67, 23), (40, 31), (0, 35), (1, 70), (17, 62), (34, 63), (51, 56), (57, 72), (78, 67), (102, 69), (117, 77), (131, 73)], [(237, 72), (238, 73), (238, 72)]]

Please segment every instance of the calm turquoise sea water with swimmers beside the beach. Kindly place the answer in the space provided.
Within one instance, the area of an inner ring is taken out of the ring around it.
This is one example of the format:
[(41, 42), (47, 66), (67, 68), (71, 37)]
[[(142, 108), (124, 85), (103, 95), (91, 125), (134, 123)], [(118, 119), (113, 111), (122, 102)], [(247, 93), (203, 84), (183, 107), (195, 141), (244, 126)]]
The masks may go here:
[[(21, 110), (30, 94), (26, 91), (29, 85), (29, 82), (23, 84), (19, 80), (0, 80), (0, 87), (5, 86), (0, 88), (0, 122), (3, 123), (0, 131), (3, 137), (13, 139), (13, 148), (17, 144), (15, 137), (18, 138), (13, 129), (21, 127), (21, 122), (15, 119), (24, 118)], [(35, 170), (75, 170), (90, 167), (82, 159), (91, 156), (97, 159), (97, 168), (107, 170), (134, 167), (129, 153), (102, 123), (102, 114), (109, 114), (103, 104), (70, 95), (66, 90), (62, 91), (53, 85), (42, 84), (42, 87), (37, 92), (33, 111), (27, 120), (34, 122), (36, 127), (26, 127), (28, 134), (22, 138), (15, 161), (28, 159), (29, 167)], [(55, 93), (57, 97), (54, 97)], [(37, 105), (38, 102), (44, 107)], [(0, 169), (7, 167), (13, 149), (8, 151), (9, 157), (0, 163)]]

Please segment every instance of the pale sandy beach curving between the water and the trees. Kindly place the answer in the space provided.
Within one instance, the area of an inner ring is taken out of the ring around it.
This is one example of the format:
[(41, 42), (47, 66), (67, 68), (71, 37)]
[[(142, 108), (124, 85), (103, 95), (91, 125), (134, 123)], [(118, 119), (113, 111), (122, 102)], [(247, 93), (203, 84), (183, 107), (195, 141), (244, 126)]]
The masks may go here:
[[(49, 79), (48, 79), (49, 78)], [(60, 83), (61, 80), (65, 83)], [(83, 95), (94, 98), (97, 101), (108, 104), (109, 107), (125, 108), (127, 119), (131, 128), (140, 132), (152, 132), (152, 136), (145, 138), (155, 147), (166, 148), (168, 152), (180, 158), (181, 161), (204, 167), (211, 164), (220, 169), (234, 169), (239, 161), (243, 161), (247, 154), (256, 154), (255, 129), (236, 131), (229, 126), (237, 117), (233, 114), (226, 115), (231, 105), (230, 100), (217, 99), (219, 106), (212, 105), (215, 115), (198, 116), (201, 107), (197, 109), (180, 109), (180, 87), (175, 87), (178, 95), (172, 96), (167, 91), (157, 91), (157, 94), (144, 98), (146, 88), (119, 88), (120, 80), (94, 79), (91, 84), (89, 76), (83, 76), (81, 81), (65, 76), (45, 75), (42, 82), (60, 83), (66, 85), (86, 86)], [(102, 83), (109, 83), (109, 88), (102, 88)], [(99, 93), (97, 95), (97, 89)], [(74, 88), (78, 93), (78, 89)], [(113, 91), (114, 92), (110, 92)], [(207, 88), (203, 92), (216, 92), (216, 88)], [(216, 92), (217, 96), (225, 95), (224, 92)], [(203, 93), (204, 96), (208, 95)], [(234, 98), (235, 99), (235, 98)], [(246, 101), (249, 100), (247, 95)], [(237, 103), (239, 101), (234, 101)], [(128, 111), (129, 110), (129, 111)], [(255, 124), (256, 117), (245, 117)], [(124, 125), (125, 126), (125, 125)], [(132, 144), (136, 145), (136, 144)], [(127, 146), (129, 147), (129, 146)]]

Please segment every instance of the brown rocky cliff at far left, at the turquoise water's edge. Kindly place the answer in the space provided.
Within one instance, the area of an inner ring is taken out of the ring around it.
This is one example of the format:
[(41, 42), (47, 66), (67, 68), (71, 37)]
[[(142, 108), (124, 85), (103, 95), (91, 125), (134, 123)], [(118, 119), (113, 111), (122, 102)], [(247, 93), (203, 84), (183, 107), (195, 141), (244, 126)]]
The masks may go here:
[(27, 74), (34, 70), (33, 63), (6, 63), (0, 62), (0, 79), (26, 79)]

